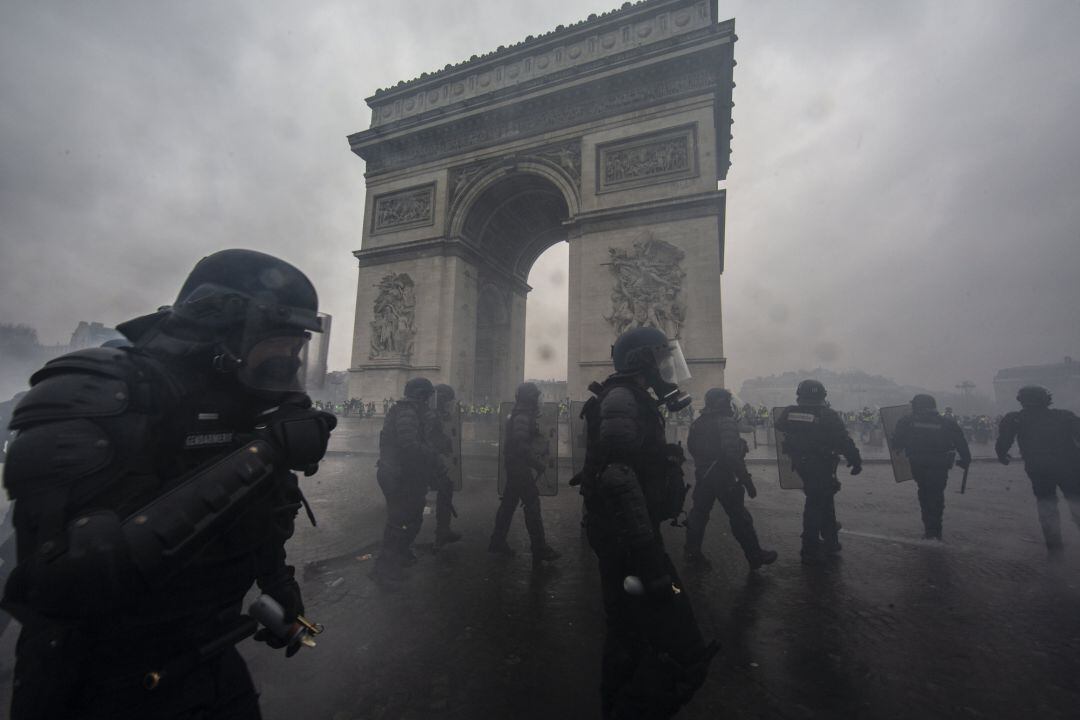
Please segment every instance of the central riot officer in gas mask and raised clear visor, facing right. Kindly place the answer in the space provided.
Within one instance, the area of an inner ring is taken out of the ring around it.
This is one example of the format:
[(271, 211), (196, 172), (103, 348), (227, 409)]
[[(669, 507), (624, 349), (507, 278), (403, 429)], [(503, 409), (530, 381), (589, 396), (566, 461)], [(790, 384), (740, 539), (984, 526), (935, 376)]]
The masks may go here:
[(583, 410), (585, 531), (607, 616), (602, 705), (605, 718), (669, 718), (705, 681), (716, 652), (660, 534), (681, 513), (687, 486), (659, 406), (674, 413), (690, 404), (678, 386), (690, 373), (678, 342), (650, 327), (619, 336), (611, 359), (615, 373), (590, 385)]

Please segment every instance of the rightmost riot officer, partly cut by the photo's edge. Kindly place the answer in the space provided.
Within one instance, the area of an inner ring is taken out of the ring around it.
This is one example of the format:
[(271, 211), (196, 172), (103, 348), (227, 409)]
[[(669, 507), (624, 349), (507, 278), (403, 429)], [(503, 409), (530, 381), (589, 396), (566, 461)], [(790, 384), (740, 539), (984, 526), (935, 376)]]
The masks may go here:
[(1039, 524), (1051, 557), (1063, 552), (1057, 489), (1069, 504), (1072, 520), (1080, 526), (1080, 418), (1068, 410), (1052, 409), (1050, 391), (1038, 385), (1021, 388), (1021, 410), (1001, 419), (995, 450), (1002, 465), (1011, 458), (1015, 440), (1024, 458), (1024, 470), (1039, 512)]

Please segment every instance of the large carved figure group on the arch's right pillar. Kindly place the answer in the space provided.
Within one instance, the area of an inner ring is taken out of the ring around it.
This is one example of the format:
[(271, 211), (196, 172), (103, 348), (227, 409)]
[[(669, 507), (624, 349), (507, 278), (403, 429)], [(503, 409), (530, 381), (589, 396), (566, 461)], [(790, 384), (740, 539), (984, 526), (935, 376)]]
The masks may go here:
[(606, 320), (616, 335), (635, 327), (656, 327), (677, 339), (686, 322), (681, 299), (683, 259), (686, 254), (651, 233), (629, 248), (608, 248), (606, 262), (615, 285), (611, 289), (611, 314)]

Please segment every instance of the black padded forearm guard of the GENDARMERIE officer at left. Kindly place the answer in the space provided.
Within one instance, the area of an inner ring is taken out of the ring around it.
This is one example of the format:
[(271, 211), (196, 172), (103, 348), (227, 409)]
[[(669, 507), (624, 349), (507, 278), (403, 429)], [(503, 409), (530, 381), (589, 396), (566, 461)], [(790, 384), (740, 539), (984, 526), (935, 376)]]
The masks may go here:
[(248, 443), (195, 472), (123, 522), (123, 535), (139, 574), (160, 585), (272, 487), (273, 451)]

